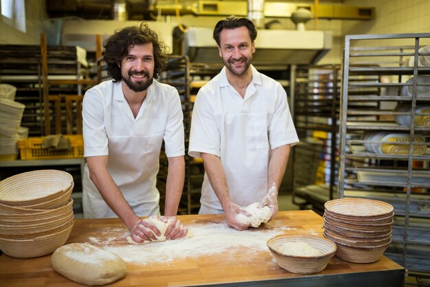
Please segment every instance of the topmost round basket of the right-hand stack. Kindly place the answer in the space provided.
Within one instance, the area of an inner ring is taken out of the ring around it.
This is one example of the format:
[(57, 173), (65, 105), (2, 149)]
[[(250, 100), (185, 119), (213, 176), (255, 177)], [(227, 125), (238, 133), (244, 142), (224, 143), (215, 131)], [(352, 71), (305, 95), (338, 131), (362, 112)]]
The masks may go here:
[(360, 218), (375, 219), (391, 215), (394, 208), (391, 204), (379, 200), (367, 200), (365, 198), (341, 198), (330, 200), (324, 204), (324, 208), (332, 215), (339, 215)]

